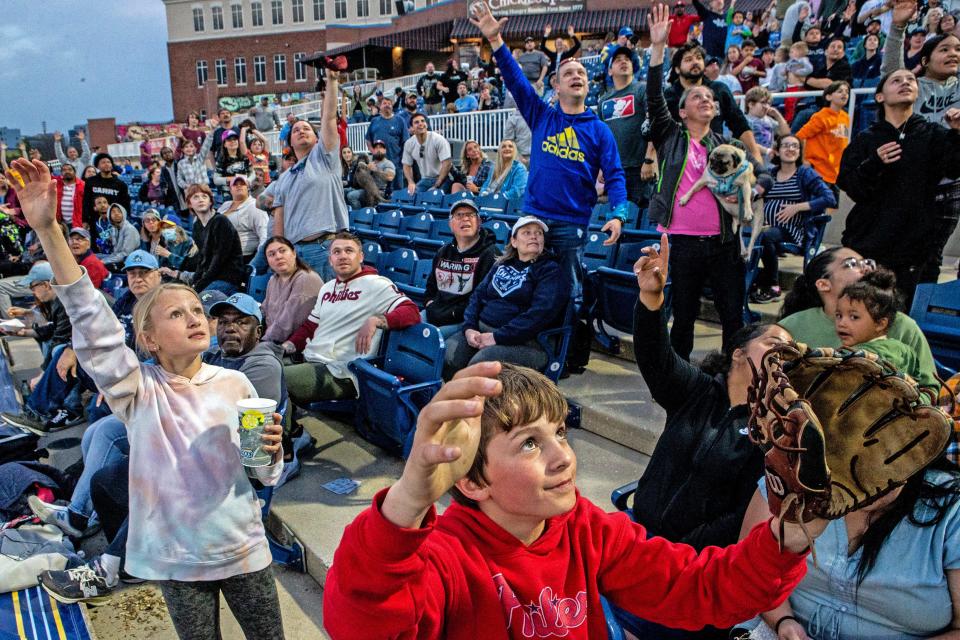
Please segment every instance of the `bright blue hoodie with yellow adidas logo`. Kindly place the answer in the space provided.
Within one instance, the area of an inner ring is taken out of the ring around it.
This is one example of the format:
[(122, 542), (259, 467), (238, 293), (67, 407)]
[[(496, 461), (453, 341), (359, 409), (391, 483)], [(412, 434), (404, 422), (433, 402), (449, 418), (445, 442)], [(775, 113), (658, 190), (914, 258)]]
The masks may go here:
[(610, 128), (590, 109), (568, 115), (544, 104), (509, 47), (501, 46), (493, 55), (533, 133), (524, 212), (586, 226), (597, 204), (595, 183), (601, 170), (611, 206), (625, 205), (626, 182)]

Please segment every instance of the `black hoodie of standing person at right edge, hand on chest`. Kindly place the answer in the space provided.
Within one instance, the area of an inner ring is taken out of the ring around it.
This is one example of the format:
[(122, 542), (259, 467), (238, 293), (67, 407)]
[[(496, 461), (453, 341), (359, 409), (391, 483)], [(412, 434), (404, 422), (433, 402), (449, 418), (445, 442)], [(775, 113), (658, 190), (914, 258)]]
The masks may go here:
[(855, 203), (843, 246), (891, 268), (932, 257), (937, 184), (960, 177), (960, 132), (913, 115), (902, 134), (900, 160), (884, 164), (877, 148), (901, 132), (886, 120), (873, 123), (843, 152), (837, 176), (837, 186)]

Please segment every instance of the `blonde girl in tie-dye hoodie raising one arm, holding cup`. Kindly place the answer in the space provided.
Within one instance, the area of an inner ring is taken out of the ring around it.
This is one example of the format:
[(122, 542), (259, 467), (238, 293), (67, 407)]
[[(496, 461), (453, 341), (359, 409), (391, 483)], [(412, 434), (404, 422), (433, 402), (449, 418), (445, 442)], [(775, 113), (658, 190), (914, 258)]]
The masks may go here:
[[(103, 296), (73, 259), (56, 223), (56, 183), (42, 163), (17, 160), (21, 206), (53, 268), (73, 348), (130, 442), (126, 571), (157, 581), (181, 637), (219, 636), (222, 591), (248, 638), (282, 638), (260, 507), (241, 465), (235, 405), (255, 397), (238, 371), (204, 364), (207, 321), (197, 294), (162, 285), (134, 309), (142, 364)], [(273, 463), (253, 468), (275, 484), (280, 429), (267, 429)], [(95, 587), (93, 576), (85, 576)]]

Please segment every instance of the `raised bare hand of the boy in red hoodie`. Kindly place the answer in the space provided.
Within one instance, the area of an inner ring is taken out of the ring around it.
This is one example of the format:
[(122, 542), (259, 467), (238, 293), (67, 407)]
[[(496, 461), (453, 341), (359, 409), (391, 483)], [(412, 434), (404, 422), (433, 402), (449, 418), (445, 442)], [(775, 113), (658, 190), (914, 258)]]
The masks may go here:
[(463, 369), (420, 411), (403, 475), (383, 502), (383, 515), (417, 527), (429, 510), (473, 465), (480, 445), (483, 400), (498, 395), (499, 362)]

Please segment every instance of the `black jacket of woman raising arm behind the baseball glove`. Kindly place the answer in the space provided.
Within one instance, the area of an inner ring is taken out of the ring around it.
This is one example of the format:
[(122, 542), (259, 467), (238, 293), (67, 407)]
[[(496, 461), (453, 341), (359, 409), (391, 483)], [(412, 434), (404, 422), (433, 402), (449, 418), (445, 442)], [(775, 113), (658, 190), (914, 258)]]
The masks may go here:
[(640, 373), (667, 412), (637, 486), (634, 517), (650, 535), (697, 550), (733, 544), (763, 477), (763, 455), (746, 434), (747, 406), (731, 408), (722, 375), (711, 377), (674, 352), (662, 311), (637, 303), (633, 340)]

